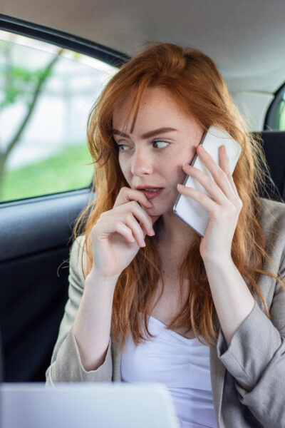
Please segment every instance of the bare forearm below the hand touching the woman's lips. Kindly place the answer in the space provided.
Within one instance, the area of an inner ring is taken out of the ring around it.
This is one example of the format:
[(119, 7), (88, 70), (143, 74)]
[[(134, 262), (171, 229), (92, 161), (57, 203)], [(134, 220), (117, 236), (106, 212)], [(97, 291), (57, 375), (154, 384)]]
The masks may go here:
[(86, 277), (81, 304), (73, 323), (81, 362), (86, 371), (103, 364), (110, 338), (113, 294), (118, 278)]

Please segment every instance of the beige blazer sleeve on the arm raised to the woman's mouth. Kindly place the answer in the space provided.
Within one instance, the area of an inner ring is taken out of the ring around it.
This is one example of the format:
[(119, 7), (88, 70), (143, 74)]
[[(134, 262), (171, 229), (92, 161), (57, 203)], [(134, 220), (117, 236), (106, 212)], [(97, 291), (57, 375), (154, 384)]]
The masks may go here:
[[(68, 275), (68, 301), (59, 327), (58, 339), (53, 349), (51, 365), (46, 370), (46, 385), (56, 382), (111, 382), (113, 361), (111, 338), (105, 360), (97, 370), (86, 371), (82, 365), (73, 322), (83, 295), (84, 276), (81, 267), (84, 235), (78, 236), (71, 245)], [(83, 258), (84, 265), (84, 258)]]

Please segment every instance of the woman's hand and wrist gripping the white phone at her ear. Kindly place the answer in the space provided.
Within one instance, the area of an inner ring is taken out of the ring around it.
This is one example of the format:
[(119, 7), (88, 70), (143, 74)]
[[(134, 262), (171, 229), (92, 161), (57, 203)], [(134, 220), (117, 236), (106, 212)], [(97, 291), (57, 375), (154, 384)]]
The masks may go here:
[(199, 251), (202, 259), (232, 258), (232, 238), (237, 228), (237, 220), (242, 210), (242, 200), (239, 198), (232, 174), (229, 170), (229, 158), (224, 146), (219, 147), (219, 165), (207, 151), (198, 146), (197, 154), (206, 165), (212, 178), (198, 168), (184, 165), (183, 170), (199, 181), (211, 196), (204, 195), (190, 187), (177, 186), (183, 195), (195, 199), (209, 212), (209, 223), (204, 238), (201, 238)]

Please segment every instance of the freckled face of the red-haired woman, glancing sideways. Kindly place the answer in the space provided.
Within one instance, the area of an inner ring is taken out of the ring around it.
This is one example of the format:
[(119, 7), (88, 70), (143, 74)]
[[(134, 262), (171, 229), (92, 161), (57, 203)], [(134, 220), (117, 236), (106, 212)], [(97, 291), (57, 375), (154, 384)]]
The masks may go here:
[[(123, 126), (131, 101), (132, 98), (125, 98), (113, 113), (114, 139), (120, 145), (118, 161), (130, 188), (163, 188), (152, 198), (153, 208), (147, 210), (150, 215), (162, 215), (172, 211), (178, 196), (177, 184), (185, 180), (182, 166), (195, 156), (203, 130), (195, 119), (186, 116), (165, 88), (147, 88), (130, 134), (134, 112), (128, 125)], [(145, 135), (159, 128), (173, 131)]]

